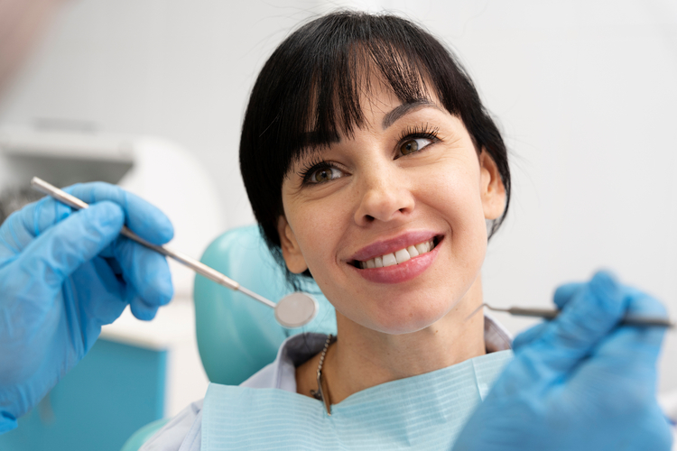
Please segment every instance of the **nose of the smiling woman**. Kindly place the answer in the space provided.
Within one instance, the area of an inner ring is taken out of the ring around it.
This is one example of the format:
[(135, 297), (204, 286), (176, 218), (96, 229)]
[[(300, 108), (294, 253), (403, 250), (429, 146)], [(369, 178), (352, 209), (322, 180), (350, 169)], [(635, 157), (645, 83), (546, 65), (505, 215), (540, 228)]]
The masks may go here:
[(355, 212), (358, 226), (401, 219), (413, 212), (413, 193), (401, 169), (375, 164), (361, 175), (359, 205)]

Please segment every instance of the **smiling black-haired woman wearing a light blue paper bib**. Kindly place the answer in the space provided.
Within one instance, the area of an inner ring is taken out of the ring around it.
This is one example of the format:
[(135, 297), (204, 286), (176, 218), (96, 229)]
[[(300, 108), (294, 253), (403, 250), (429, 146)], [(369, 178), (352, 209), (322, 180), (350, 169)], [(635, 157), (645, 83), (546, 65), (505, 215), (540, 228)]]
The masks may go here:
[(143, 449), (452, 446), (511, 355), (471, 316), (510, 172), (468, 76), (401, 18), (321, 17), (262, 69), (240, 163), (264, 239), (292, 283), (318, 283), (338, 339), (288, 339)]

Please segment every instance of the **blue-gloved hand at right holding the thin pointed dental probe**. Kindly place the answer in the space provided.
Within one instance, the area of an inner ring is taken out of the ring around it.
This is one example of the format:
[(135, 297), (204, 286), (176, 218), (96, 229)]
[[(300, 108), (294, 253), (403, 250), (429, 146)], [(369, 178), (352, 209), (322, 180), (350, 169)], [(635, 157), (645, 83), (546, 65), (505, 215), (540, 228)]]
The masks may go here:
[(554, 301), (561, 315), (517, 336), (515, 360), (454, 451), (669, 451), (655, 399), (664, 329), (617, 325), (626, 312), (664, 316), (663, 306), (607, 272)]

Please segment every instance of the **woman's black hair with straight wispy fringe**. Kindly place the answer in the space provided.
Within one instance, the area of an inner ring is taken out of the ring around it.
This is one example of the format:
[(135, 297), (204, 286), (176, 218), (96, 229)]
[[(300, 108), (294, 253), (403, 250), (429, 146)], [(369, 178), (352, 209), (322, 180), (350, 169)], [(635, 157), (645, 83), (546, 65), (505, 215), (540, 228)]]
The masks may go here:
[(505, 186), (505, 211), (489, 236), (505, 218), (511, 188), (505, 143), (451, 51), (401, 17), (343, 11), (292, 32), (266, 61), (246, 108), (240, 170), (262, 235), (280, 262), (285, 174), (309, 146), (328, 145), (364, 124), (359, 96), (365, 87), (368, 92), (374, 69), (403, 103), (430, 92), (463, 121), (478, 152), (484, 149), (496, 162)]

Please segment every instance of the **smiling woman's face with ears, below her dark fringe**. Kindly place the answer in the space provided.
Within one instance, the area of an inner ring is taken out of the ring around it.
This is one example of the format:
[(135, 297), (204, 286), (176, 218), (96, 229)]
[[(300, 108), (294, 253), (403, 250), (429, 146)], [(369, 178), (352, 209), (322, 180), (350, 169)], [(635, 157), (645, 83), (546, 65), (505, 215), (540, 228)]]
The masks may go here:
[(502, 214), (505, 190), (458, 117), (373, 86), (362, 128), (292, 165), (279, 231), (289, 269), (310, 269), (344, 317), (403, 334), (442, 318), (478, 279), (485, 219)]

